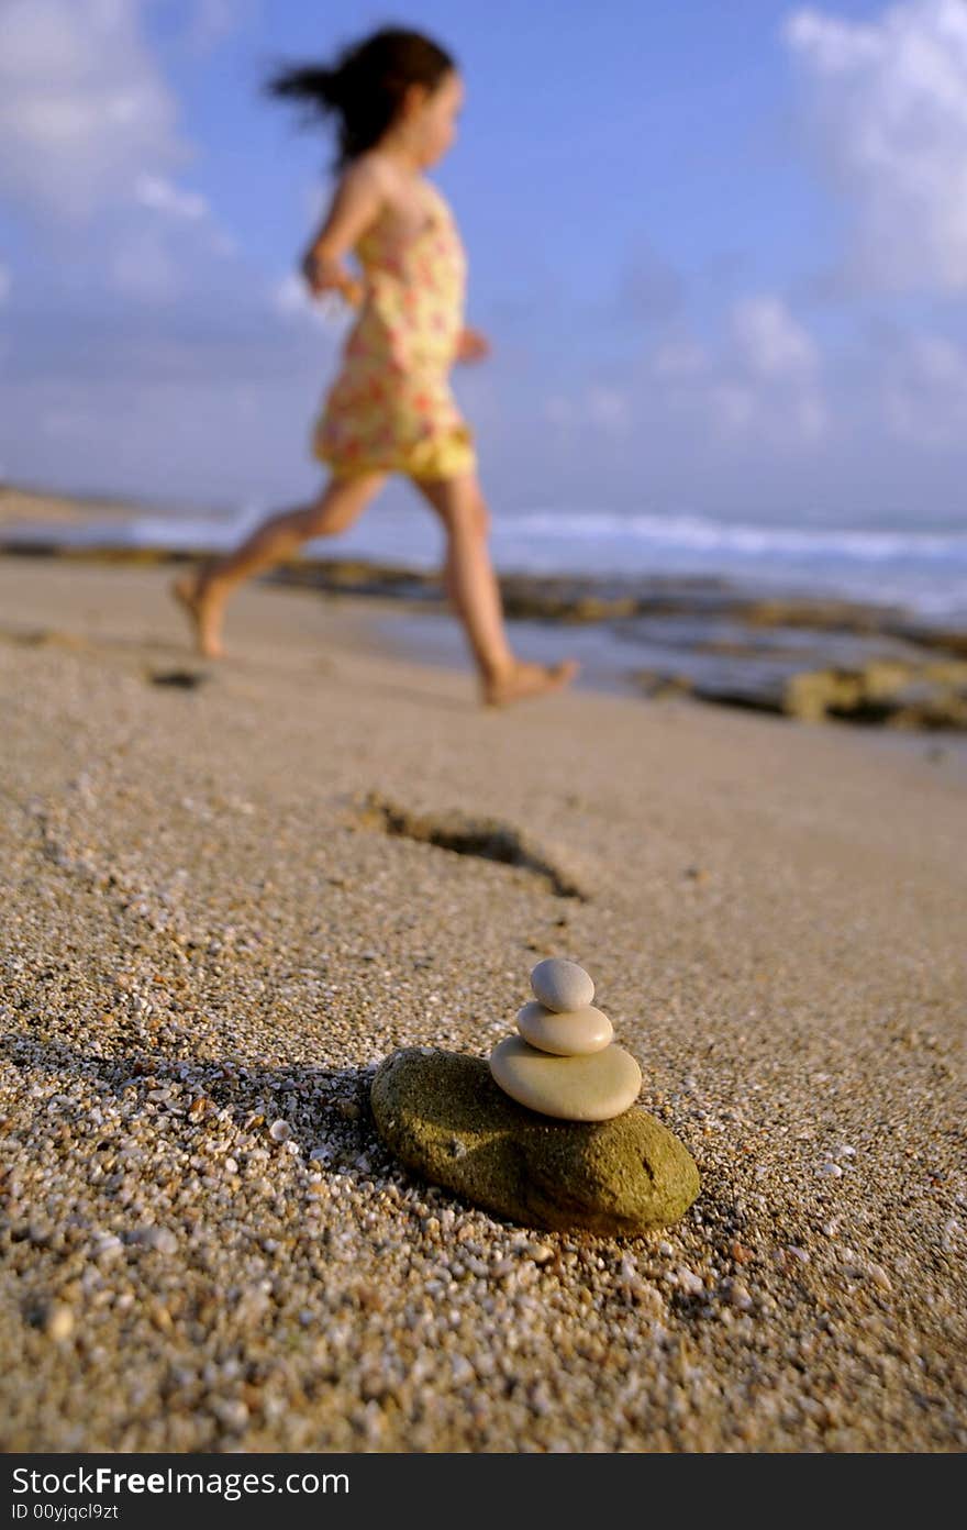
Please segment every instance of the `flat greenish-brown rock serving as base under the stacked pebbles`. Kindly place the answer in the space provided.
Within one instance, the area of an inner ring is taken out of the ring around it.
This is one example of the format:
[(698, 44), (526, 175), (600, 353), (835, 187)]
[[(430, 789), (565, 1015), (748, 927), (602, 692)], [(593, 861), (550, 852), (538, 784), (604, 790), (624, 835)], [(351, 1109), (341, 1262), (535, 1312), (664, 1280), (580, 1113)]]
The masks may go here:
[(555, 1121), (503, 1094), (479, 1057), (404, 1048), (370, 1100), (407, 1169), (523, 1226), (630, 1236), (678, 1221), (699, 1192), (692, 1155), (653, 1115)]

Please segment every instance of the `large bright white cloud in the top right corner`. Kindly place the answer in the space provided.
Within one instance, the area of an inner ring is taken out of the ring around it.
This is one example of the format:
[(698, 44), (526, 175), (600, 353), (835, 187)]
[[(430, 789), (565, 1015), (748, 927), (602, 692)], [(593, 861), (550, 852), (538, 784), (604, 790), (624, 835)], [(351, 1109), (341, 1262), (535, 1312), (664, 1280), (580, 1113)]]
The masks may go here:
[(825, 161), (848, 196), (842, 277), (967, 289), (967, 5), (903, 0), (874, 21), (806, 8), (783, 29), (814, 95)]

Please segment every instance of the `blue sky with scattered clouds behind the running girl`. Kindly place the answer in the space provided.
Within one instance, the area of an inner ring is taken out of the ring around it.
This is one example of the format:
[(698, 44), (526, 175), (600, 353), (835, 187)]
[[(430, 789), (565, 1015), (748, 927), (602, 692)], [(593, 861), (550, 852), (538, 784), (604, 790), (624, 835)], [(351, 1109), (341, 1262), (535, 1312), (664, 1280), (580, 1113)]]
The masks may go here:
[(387, 21), (467, 86), (496, 508), (967, 520), (967, 0), (0, 0), (0, 477), (312, 493), (332, 142), (260, 84)]

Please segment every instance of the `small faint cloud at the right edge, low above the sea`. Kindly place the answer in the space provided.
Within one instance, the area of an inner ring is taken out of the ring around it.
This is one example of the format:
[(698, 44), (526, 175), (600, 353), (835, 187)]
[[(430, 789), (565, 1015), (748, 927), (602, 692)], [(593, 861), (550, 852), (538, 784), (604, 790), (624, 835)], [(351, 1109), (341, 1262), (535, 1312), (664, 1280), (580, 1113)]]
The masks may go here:
[(962, 447), (967, 439), (967, 352), (941, 335), (915, 335), (884, 367), (886, 421), (901, 441)]

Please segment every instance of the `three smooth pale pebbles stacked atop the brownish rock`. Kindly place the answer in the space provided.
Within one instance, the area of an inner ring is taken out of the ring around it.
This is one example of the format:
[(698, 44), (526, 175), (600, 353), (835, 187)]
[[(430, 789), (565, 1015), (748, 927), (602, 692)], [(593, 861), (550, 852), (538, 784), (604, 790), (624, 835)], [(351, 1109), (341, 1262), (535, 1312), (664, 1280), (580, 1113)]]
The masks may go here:
[(531, 973), (536, 1002), (517, 1013), (519, 1036), (490, 1054), (494, 1082), (519, 1105), (563, 1121), (609, 1121), (638, 1099), (641, 1068), (591, 1002), (577, 962), (551, 956)]

